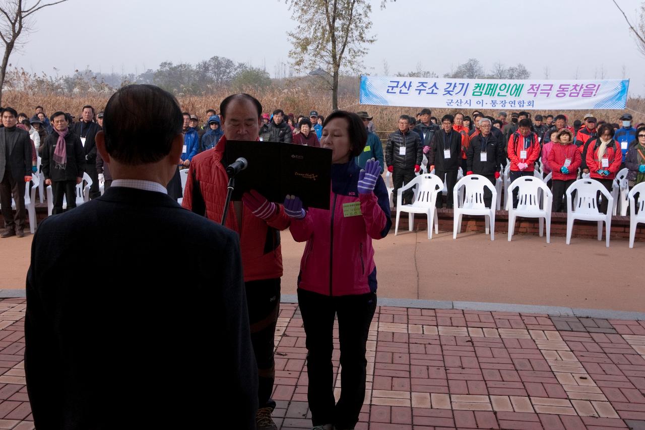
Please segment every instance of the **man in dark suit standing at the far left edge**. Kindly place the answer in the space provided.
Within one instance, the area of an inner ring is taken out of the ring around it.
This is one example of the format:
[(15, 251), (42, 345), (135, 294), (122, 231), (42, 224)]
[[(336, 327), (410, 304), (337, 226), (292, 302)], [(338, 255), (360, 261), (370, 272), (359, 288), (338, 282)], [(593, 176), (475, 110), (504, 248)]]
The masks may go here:
[[(14, 108), (2, 112), (0, 128), (0, 205), (5, 231), (0, 238), (25, 236), (25, 185), (32, 180), (32, 143), (29, 133), (15, 127), (18, 114)], [(11, 198), (15, 200), (15, 215)]]

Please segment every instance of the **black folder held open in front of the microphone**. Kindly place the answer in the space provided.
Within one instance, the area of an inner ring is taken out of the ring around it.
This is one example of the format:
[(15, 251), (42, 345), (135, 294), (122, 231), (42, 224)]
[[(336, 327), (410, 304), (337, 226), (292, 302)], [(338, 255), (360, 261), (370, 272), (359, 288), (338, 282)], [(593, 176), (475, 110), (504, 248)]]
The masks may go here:
[(235, 176), (232, 200), (257, 190), (269, 201), (283, 203), (287, 194), (298, 196), (304, 207), (329, 209), (332, 150), (261, 141), (226, 141), (224, 163), (239, 157), (248, 167)]

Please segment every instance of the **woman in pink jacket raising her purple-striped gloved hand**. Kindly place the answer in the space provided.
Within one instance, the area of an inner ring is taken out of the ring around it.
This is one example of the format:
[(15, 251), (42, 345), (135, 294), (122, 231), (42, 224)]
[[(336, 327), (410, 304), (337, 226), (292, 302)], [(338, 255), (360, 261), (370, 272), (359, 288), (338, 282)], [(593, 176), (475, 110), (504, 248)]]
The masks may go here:
[[(361, 170), (367, 133), (361, 118), (339, 110), (326, 118), (321, 146), (332, 150), (330, 209), (303, 209), (284, 200), (293, 239), (306, 241), (298, 276), (298, 303), (306, 334), (308, 402), (313, 428), (353, 429), (365, 397), (366, 342), (376, 309), (372, 239), (392, 226), (379, 161)], [(341, 398), (333, 396), (333, 322), (338, 318)]]

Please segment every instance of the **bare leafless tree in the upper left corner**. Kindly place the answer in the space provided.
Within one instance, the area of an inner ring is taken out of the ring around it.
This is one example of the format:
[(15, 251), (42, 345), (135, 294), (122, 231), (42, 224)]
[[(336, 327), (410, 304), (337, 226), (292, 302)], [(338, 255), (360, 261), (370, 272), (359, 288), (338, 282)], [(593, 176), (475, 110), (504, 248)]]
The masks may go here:
[(28, 6), (27, 1), (23, 0), (2, 0), (0, 1), (0, 38), (5, 43), (5, 55), (0, 65), (0, 104), (2, 103), (2, 89), (5, 85), (6, 67), (9, 64), (9, 56), (16, 45), (20, 42), (18, 38), (23, 32), (28, 33), (31, 30), (32, 15), (46, 8), (47, 6), (58, 5), (67, 0), (54, 1), (52, 3), (43, 3), (43, 0), (37, 0), (34, 5)]

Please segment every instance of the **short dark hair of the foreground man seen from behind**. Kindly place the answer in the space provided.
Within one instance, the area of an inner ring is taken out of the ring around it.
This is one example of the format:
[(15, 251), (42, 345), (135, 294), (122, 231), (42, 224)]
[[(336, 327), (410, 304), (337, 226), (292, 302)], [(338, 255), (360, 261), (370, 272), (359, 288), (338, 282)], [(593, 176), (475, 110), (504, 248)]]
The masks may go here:
[(127, 85), (110, 97), (103, 114), (105, 148), (126, 165), (155, 163), (181, 134), (177, 99), (154, 85)]

